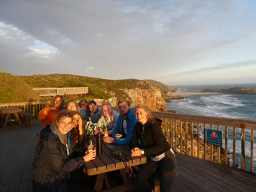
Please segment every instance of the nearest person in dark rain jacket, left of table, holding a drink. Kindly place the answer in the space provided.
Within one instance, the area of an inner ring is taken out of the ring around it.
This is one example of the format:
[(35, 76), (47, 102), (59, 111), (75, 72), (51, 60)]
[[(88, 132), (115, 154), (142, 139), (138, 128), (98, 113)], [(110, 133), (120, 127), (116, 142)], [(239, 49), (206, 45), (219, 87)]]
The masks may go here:
[(84, 156), (70, 158), (73, 151), (82, 152), (67, 137), (72, 127), (73, 114), (63, 110), (58, 114), (55, 124), (42, 129), (33, 163), (33, 191), (66, 191), (68, 173), (79, 169), (85, 161), (95, 159), (95, 150), (90, 153), (86, 151)]

